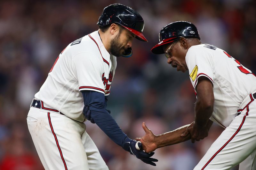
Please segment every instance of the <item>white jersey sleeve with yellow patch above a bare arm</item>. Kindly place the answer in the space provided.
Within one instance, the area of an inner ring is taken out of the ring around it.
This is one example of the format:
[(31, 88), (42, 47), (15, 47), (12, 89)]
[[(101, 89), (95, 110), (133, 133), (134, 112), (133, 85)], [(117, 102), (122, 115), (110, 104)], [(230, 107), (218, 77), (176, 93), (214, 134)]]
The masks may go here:
[(213, 61), (210, 52), (203, 49), (204, 47), (189, 48), (186, 55), (186, 63), (189, 70), (190, 81), (196, 91), (198, 78), (204, 76), (208, 78), (213, 85)]

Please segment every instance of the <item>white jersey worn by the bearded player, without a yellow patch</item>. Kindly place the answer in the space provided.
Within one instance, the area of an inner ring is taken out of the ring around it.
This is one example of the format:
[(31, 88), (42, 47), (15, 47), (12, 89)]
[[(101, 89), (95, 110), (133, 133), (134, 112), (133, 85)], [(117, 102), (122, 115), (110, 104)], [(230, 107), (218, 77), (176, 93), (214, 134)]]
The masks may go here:
[(109, 95), (116, 70), (116, 56), (104, 47), (98, 31), (70, 43), (58, 56), (47, 79), (35, 94), (42, 108), (60, 111), (84, 122), (81, 90)]

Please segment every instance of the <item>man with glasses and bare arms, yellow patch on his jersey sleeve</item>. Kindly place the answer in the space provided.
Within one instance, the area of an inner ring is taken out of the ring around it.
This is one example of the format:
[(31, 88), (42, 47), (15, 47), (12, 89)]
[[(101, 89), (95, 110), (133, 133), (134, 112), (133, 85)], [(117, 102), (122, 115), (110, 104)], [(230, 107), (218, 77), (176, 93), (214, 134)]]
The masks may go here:
[(151, 51), (165, 54), (177, 71), (189, 72), (196, 94), (195, 122), (155, 136), (137, 138), (146, 152), (191, 139), (207, 137), (212, 122), (225, 128), (195, 170), (256, 169), (256, 76), (226, 51), (200, 42), (195, 25), (173, 22), (160, 31)]

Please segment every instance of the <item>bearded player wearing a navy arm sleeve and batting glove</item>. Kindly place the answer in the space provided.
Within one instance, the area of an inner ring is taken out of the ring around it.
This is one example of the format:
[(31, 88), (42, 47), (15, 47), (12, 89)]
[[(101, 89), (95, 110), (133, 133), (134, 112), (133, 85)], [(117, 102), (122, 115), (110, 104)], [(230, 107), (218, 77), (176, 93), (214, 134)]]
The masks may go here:
[(35, 94), (28, 129), (45, 169), (106, 170), (106, 163), (86, 133), (84, 121), (96, 123), (108, 137), (143, 162), (154, 165), (154, 152), (140, 150), (117, 125), (107, 107), (116, 56), (132, 55), (132, 40), (147, 41), (140, 14), (122, 4), (104, 8), (99, 30), (70, 43), (58, 56)]

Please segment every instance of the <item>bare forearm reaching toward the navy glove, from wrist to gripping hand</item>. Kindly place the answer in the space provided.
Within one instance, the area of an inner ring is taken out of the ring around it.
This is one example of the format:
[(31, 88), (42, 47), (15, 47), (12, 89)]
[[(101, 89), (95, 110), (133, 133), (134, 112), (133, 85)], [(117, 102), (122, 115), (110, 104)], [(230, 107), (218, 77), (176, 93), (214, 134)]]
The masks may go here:
[(189, 135), (185, 137), (180, 136), (184, 131), (186, 131), (188, 126), (189, 124), (182, 126), (178, 129), (175, 129), (173, 131), (170, 131), (161, 135), (157, 135), (155, 139), (157, 148), (161, 148), (161, 147), (172, 145), (172, 144), (178, 144), (178, 143), (189, 140), (190, 139)]

